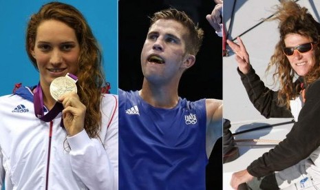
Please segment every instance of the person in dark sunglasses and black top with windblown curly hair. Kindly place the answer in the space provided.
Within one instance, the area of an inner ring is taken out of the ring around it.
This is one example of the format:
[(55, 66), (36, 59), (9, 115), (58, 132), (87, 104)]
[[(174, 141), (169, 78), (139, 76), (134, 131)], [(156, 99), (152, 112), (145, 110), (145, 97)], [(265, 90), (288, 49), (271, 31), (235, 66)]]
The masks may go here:
[[(271, 20), (279, 21), (279, 42), (268, 70), (275, 66), (277, 92), (265, 87), (250, 65), (240, 38), (227, 41), (238, 63), (238, 72), (250, 101), (266, 118), (295, 118), (286, 138), (233, 173), (231, 186), (247, 182), (251, 189), (317, 189), (320, 187), (320, 67), (317, 23), (306, 8), (282, 1)], [(297, 80), (295, 76), (299, 76)], [(275, 172), (277, 171), (277, 172)]]

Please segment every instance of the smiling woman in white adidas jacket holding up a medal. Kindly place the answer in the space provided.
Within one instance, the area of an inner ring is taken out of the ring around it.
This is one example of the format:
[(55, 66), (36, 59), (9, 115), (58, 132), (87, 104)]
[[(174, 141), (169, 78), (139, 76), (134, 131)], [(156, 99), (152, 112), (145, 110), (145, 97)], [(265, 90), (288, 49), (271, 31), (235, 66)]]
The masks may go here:
[(39, 84), (0, 98), (0, 187), (118, 189), (118, 96), (85, 17), (52, 2), (28, 22)]

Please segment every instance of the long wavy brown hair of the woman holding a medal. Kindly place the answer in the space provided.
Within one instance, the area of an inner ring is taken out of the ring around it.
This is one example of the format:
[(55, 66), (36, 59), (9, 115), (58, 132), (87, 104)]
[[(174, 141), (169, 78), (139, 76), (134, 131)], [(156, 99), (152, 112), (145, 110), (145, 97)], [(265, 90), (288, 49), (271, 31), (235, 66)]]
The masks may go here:
[(66, 3), (50, 2), (43, 5), (39, 12), (32, 14), (26, 31), (25, 49), (36, 70), (36, 59), (31, 54), (36, 41), (36, 30), (43, 21), (54, 19), (73, 28), (80, 45), (78, 57), (78, 96), (87, 107), (85, 130), (91, 138), (98, 137), (101, 125), (100, 101), (101, 88), (105, 83), (102, 69), (102, 51), (85, 17), (74, 6)]

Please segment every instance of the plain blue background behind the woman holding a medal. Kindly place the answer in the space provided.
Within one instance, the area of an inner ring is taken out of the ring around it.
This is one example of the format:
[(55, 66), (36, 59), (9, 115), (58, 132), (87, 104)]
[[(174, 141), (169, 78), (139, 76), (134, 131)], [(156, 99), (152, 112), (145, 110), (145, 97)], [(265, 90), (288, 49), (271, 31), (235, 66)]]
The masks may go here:
[[(0, 0), (0, 96), (11, 94), (15, 83), (25, 86), (39, 82), (37, 72), (25, 52), (25, 29), (30, 15), (50, 1)], [(103, 48), (106, 78), (112, 94), (118, 94), (117, 0), (65, 0), (78, 8), (87, 19)]]

